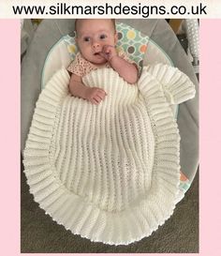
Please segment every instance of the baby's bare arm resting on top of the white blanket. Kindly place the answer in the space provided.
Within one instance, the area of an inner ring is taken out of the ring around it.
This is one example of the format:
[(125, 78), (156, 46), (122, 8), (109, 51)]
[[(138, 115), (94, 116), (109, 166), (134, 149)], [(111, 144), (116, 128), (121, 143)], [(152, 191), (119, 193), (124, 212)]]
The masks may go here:
[(69, 90), (71, 95), (84, 98), (93, 104), (99, 104), (106, 96), (106, 92), (97, 87), (88, 87), (81, 82), (81, 77), (72, 74), (69, 82)]

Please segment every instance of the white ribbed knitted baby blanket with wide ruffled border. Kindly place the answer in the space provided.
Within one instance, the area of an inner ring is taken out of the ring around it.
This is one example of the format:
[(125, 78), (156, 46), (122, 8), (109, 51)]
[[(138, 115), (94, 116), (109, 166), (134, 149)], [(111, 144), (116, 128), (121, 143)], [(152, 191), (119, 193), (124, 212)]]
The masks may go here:
[(37, 100), (24, 150), (35, 200), (72, 233), (107, 244), (150, 235), (172, 214), (179, 191), (179, 131), (170, 104), (193, 98), (184, 73), (143, 68), (128, 84), (111, 68), (83, 78), (104, 88), (93, 105), (68, 93), (58, 71)]

